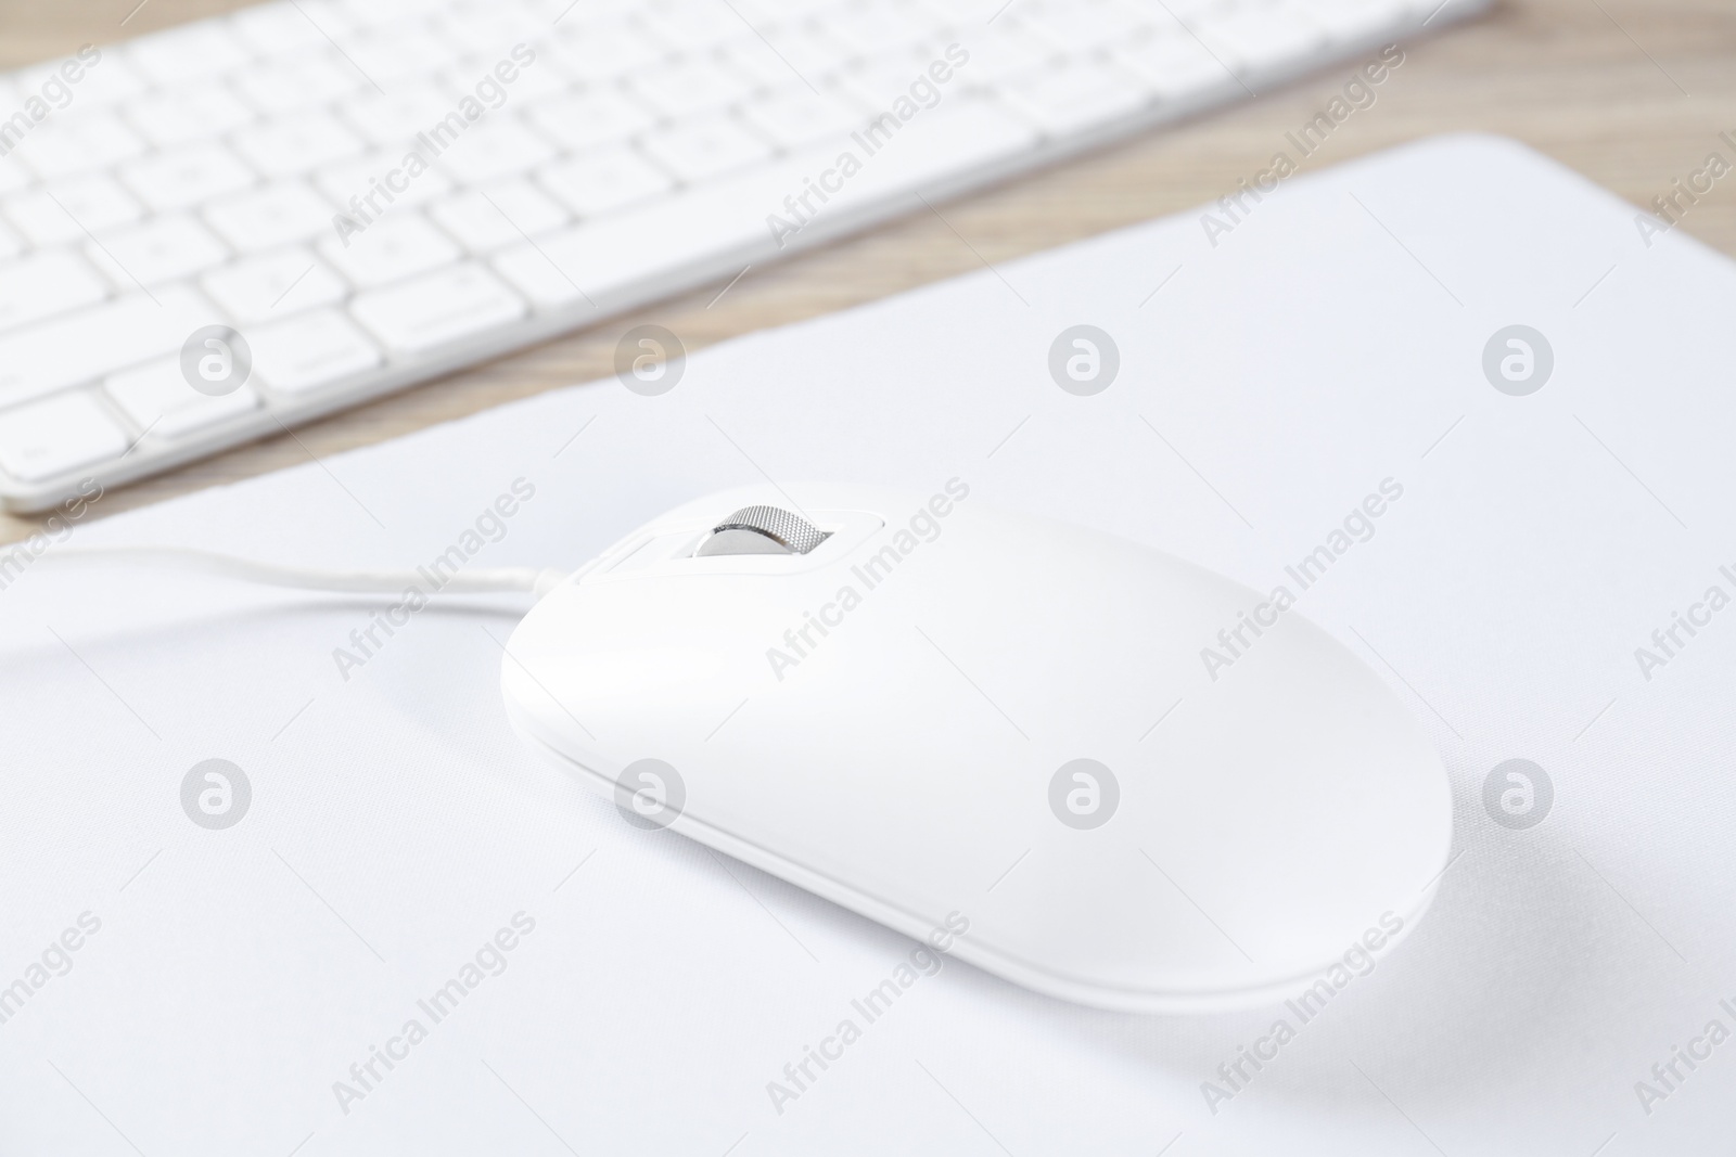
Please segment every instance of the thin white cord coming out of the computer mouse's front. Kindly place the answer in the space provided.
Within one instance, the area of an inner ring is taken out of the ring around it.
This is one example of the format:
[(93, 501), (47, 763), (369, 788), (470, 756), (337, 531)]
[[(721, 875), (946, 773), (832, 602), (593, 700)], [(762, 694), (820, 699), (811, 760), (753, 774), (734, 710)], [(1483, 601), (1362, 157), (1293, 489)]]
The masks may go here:
[(568, 578), (566, 571), (549, 567), (493, 567), (458, 571), (455, 574), (448, 574), (444, 581), (436, 585), (432, 583), (432, 576), (420, 571), (311, 571), (307, 567), (286, 567), (274, 562), (255, 562), (252, 559), (236, 559), (234, 555), (219, 555), (208, 550), (181, 550), (167, 546), (115, 546), (89, 550), (68, 546), (64, 550), (43, 552), (38, 560), (174, 567), (179, 571), (193, 571), (196, 574), (234, 579), (238, 583), (370, 595), (398, 595), (410, 586), (418, 590), (437, 586), (439, 592), (455, 595), (529, 592), (542, 598)]

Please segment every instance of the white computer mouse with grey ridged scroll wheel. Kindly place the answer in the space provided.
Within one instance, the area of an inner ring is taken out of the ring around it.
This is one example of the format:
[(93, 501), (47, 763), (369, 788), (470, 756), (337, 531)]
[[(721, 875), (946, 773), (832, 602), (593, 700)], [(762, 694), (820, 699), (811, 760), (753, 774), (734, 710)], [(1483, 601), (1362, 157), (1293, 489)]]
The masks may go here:
[(957, 479), (679, 507), (531, 609), (502, 689), (630, 819), (1099, 1008), (1359, 968), (1451, 841), (1429, 739), (1300, 612)]

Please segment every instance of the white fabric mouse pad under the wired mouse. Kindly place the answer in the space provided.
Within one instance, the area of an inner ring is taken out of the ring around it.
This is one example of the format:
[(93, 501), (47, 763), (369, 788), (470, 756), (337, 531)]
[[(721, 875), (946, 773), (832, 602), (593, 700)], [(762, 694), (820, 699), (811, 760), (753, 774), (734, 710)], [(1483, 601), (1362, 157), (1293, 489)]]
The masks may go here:
[[(62, 515), (0, 555), (0, 1150), (1706, 1152), (1733, 302), (1705, 246), (1446, 137), (738, 338), (661, 394)], [(1302, 1006), (1076, 1008), (545, 765), (498, 690), (524, 598), (35, 553), (576, 567), (767, 477), (958, 479), (1286, 588), (1443, 753), (1432, 909)]]

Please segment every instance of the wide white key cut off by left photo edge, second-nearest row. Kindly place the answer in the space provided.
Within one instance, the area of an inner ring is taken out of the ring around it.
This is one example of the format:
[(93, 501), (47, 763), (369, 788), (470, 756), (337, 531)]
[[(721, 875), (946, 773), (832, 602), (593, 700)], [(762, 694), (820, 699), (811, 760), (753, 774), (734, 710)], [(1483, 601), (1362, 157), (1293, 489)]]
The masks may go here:
[(94, 382), (116, 369), (181, 349), (200, 326), (220, 317), (186, 286), (127, 293), (0, 335), (0, 406)]

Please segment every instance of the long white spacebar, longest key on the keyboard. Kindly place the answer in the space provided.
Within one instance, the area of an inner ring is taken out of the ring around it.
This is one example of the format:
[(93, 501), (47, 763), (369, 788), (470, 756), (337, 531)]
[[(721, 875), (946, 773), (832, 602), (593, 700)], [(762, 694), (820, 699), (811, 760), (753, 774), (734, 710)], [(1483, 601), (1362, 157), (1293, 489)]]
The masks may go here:
[[(800, 198), (809, 182), (842, 186), (828, 201), (809, 194), (800, 210), (814, 229), (1016, 156), (1036, 144), (1036, 134), (986, 101), (960, 99), (920, 111), (875, 153), (856, 139), (806, 149), (773, 165), (677, 193), (641, 210), (615, 213), (542, 241), (549, 255), (601, 307), (708, 258), (734, 255), (746, 262), (773, 257), (802, 239), (800, 217), (785, 198)], [(859, 163), (845, 177), (840, 154)], [(779, 224), (779, 220), (783, 224)], [(774, 229), (795, 229), (774, 236)]]

